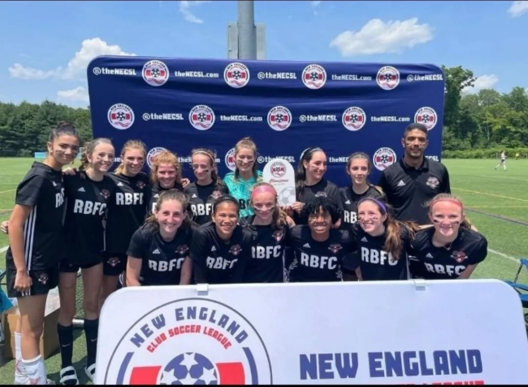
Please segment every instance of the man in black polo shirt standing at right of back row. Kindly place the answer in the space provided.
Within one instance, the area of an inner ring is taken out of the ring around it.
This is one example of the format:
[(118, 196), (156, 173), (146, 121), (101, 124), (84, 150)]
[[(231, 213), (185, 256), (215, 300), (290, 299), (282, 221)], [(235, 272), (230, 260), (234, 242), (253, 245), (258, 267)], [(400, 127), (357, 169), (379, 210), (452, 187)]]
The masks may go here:
[(423, 156), (429, 145), (425, 125), (405, 128), (401, 144), (403, 157), (384, 169), (378, 185), (394, 207), (396, 219), (430, 224), (427, 202), (439, 193), (451, 193), (447, 168)]

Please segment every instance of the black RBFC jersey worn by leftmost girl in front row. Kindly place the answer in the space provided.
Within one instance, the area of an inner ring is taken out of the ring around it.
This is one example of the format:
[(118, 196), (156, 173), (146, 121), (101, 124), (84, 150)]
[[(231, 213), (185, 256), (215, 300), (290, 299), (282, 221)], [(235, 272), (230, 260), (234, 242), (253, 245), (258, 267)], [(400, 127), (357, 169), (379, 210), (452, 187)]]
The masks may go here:
[(178, 229), (168, 242), (153, 225), (138, 229), (132, 235), (127, 255), (143, 260), (142, 285), (179, 285), (183, 262), (191, 254), (192, 237), (191, 227)]

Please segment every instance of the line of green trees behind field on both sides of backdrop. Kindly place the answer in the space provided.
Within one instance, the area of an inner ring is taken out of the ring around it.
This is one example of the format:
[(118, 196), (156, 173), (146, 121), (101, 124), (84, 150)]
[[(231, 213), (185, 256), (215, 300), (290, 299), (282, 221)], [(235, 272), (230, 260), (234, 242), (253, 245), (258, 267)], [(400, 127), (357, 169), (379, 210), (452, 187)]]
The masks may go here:
[[(528, 93), (514, 87), (509, 93), (494, 89), (465, 94), (474, 86), (473, 72), (445, 67), (446, 79), (443, 157), (496, 157), (506, 150), (511, 157), (528, 156)], [(40, 105), (0, 102), (0, 156), (32, 157), (44, 149), (50, 129), (61, 120), (76, 125), (81, 139), (92, 138), (90, 110), (71, 108), (51, 101)]]

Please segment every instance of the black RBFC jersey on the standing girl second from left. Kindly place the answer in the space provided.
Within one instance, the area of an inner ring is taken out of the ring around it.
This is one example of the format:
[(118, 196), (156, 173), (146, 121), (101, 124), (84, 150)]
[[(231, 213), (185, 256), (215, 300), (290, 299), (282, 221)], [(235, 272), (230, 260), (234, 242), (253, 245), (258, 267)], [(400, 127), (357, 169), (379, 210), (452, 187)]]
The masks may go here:
[(105, 251), (105, 223), (116, 185), (108, 176), (96, 182), (84, 172), (64, 175), (66, 217), (64, 235), (69, 263), (101, 260)]

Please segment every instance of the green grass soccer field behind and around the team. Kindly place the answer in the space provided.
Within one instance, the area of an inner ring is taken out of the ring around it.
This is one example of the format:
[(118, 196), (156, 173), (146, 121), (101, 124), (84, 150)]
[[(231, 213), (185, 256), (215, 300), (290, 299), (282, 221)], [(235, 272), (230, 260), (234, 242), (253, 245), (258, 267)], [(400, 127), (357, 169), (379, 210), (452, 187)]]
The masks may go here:
[[(0, 221), (8, 219), (16, 186), (31, 163), (32, 159), (27, 158), (0, 158)], [(446, 159), (444, 163), (452, 193), (464, 201), (468, 218), (488, 239), (488, 256), (473, 278), (513, 279), (518, 258), (528, 257), (528, 160), (508, 159), (506, 172), (495, 171), (494, 159)], [(0, 233), (0, 248), (7, 244), (7, 238)], [(4, 256), (5, 252), (0, 268), (5, 266)], [(523, 271), (520, 280), (528, 283), (528, 272)], [(86, 342), (81, 329), (76, 330), (76, 337), (73, 361), (82, 384), (87, 377), (83, 372)], [(13, 367), (13, 361), (0, 364), (0, 384), (12, 383)], [(50, 379), (58, 383), (58, 352), (46, 360), (46, 368)]]

